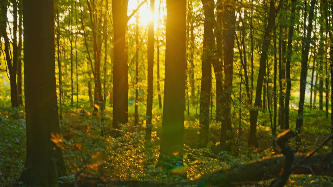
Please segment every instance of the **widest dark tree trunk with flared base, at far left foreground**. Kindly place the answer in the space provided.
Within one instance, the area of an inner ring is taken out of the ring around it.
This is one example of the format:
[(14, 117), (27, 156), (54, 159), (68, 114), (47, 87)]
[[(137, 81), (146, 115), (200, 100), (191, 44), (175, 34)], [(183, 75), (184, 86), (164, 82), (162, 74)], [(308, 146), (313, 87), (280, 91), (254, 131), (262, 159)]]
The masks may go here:
[(52, 0), (23, 1), (27, 157), (20, 181), (29, 186), (55, 186), (65, 174), (62, 151), (50, 140), (51, 133), (60, 138), (53, 12)]

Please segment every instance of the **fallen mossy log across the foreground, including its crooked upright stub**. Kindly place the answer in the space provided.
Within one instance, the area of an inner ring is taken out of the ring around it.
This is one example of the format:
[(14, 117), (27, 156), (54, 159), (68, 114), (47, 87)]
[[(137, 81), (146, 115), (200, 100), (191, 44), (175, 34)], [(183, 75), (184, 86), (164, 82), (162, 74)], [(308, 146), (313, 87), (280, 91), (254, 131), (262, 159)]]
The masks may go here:
[[(148, 181), (103, 181), (95, 177), (83, 177), (75, 183), (60, 184), (60, 187), (85, 187), (85, 186), (136, 186), (136, 187), (178, 187), (178, 186), (239, 186), (252, 184), (258, 181), (273, 179), (270, 186), (284, 186), (290, 174), (312, 174), (333, 176), (333, 152), (327, 154), (313, 155), (329, 139), (330, 135), (317, 149), (308, 154), (294, 154), (287, 144), (288, 139), (294, 133), (290, 130), (279, 134), (277, 144), (285, 155), (276, 155), (261, 160), (221, 169), (202, 176), (201, 178), (183, 183), (157, 183)], [(305, 162), (306, 161), (306, 162)], [(301, 165), (302, 164), (302, 165)]]

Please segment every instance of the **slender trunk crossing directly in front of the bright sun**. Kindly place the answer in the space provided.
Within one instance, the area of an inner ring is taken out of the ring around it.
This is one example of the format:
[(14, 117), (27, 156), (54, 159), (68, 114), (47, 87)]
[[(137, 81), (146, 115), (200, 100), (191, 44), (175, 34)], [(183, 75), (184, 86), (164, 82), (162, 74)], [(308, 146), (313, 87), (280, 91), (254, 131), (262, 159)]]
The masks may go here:
[[(155, 11), (155, 0), (150, 1), (151, 12)], [(153, 13), (154, 14), (154, 13)], [(152, 138), (152, 110), (153, 110), (153, 78), (154, 78), (154, 15), (148, 26), (148, 86), (147, 86), (147, 113), (146, 113), (146, 141)]]

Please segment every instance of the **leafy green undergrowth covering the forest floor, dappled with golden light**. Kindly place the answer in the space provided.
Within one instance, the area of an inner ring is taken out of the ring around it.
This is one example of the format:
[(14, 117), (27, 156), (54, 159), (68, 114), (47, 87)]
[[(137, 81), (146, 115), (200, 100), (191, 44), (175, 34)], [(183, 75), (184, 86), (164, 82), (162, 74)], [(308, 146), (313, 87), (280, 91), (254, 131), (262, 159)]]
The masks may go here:
[[(158, 182), (182, 182), (194, 180), (206, 173), (237, 164), (259, 160), (276, 154), (272, 148), (272, 135), (269, 113), (259, 112), (257, 137), (259, 148), (247, 146), (249, 122), (242, 119), (239, 133), (239, 117), (233, 117), (233, 138), (239, 148), (232, 152), (218, 152), (220, 123), (211, 122), (207, 148), (197, 148), (199, 121), (195, 115), (185, 113), (185, 154), (184, 166), (170, 166), (171, 170), (156, 168), (159, 156), (159, 136), (161, 134), (162, 110), (154, 108), (152, 145), (144, 143), (145, 119), (134, 126), (134, 117), (129, 116), (127, 125), (123, 125), (122, 136), (113, 138), (111, 112), (107, 112), (104, 122), (101, 116), (90, 112), (81, 113), (81, 109), (68, 108), (63, 111), (64, 119), (60, 123), (64, 140), (63, 155), (67, 167), (67, 176), (62, 182), (74, 180), (79, 171), (81, 175), (97, 176), (113, 180), (146, 180)], [(134, 110), (130, 107), (129, 113)], [(112, 111), (107, 108), (107, 111)], [(190, 111), (195, 114), (195, 108)], [(314, 144), (320, 144), (330, 134), (330, 123), (325, 111), (306, 108), (303, 125), (302, 147), (300, 152), (310, 151)], [(236, 114), (235, 114), (236, 115)], [(246, 115), (246, 114), (245, 114)], [(296, 110), (290, 111), (290, 129), (295, 129)], [(24, 167), (26, 154), (25, 116), (23, 110), (0, 108), (0, 186), (13, 186)], [(101, 127), (106, 127), (101, 136)], [(282, 132), (278, 128), (278, 132)], [(316, 142), (316, 143), (315, 143)], [(295, 146), (294, 139), (290, 142)], [(328, 144), (319, 153), (329, 152)], [(182, 173), (182, 174), (180, 174)], [(185, 175), (184, 175), (185, 174)], [(268, 186), (270, 181), (262, 181), (249, 186)], [(291, 175), (286, 186), (322, 187), (333, 186), (333, 178), (313, 175)]]

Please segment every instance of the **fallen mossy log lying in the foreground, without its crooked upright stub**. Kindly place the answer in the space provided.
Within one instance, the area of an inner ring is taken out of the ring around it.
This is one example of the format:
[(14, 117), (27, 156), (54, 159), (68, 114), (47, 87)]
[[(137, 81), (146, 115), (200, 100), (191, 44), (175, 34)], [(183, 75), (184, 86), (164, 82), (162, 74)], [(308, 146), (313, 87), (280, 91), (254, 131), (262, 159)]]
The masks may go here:
[[(299, 163), (306, 158), (307, 154), (295, 154), (294, 163)], [(60, 187), (86, 187), (86, 186), (107, 186), (107, 187), (179, 187), (179, 186), (239, 186), (252, 184), (258, 181), (276, 178), (285, 161), (283, 155), (263, 158), (243, 165), (237, 165), (213, 172), (201, 178), (184, 183), (167, 184), (147, 181), (102, 181), (98, 183), (89, 182), (90, 179), (79, 180), (76, 184), (61, 184)], [(333, 176), (333, 153), (313, 155), (303, 165), (297, 166), (292, 174), (313, 174)]]

